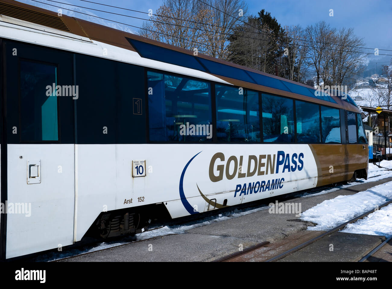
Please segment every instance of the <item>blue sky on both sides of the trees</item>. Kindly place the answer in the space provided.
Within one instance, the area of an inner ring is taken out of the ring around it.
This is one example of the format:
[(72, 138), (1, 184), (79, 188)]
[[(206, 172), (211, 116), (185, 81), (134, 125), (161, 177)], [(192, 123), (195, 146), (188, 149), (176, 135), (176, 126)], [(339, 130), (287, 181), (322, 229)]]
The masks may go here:
[[(32, 0), (19, 0), (26, 4), (57, 11), (58, 7), (48, 6)], [(136, 18), (129, 18), (118, 16), (114, 14), (93, 11), (65, 4), (50, 2), (48, 0), (38, 0), (40, 2), (51, 3), (61, 7), (72, 7), (74, 11), (82, 11), (87, 14), (94, 14), (102, 18), (115, 20), (117, 22), (127, 23), (136, 27), (140, 27), (143, 20)], [(112, 7), (105, 7), (101, 5), (83, 2), (81, 0), (56, 0), (58, 2), (75, 4), (83, 7), (100, 9), (104, 11), (126, 14), (129, 16), (148, 18), (147, 14), (124, 11)], [(142, 12), (149, 12), (152, 9), (153, 13), (162, 4), (162, 0), (91, 0), (92, 2), (108, 4), (127, 9), (133, 9)], [(372, 50), (367, 52), (374, 52), (375, 48), (389, 49), (391, 51), (379, 51), (380, 54), (392, 54), (392, 1), (391, 0), (329, 0), (329, 1), (312, 1), (312, 0), (245, 0), (248, 5), (247, 15), (256, 15), (261, 9), (270, 12), (273, 17), (278, 20), (282, 26), (284, 25), (301, 25), (306, 27), (312, 25), (320, 20), (329, 23), (331, 27), (337, 29), (341, 27), (353, 27), (354, 33), (363, 38), (366, 43), (365, 47), (370, 47)], [(239, 8), (240, 9), (240, 8)], [(330, 9), (333, 9), (333, 16), (330, 16)], [(93, 21), (92, 17), (80, 13), (70, 13), (64, 11), (64, 14), (75, 16), (78, 18), (89, 18), (87, 20)], [(245, 20), (246, 21), (246, 20)], [(121, 25), (118, 23), (109, 24), (106, 20), (96, 19), (96, 22), (111, 25), (117, 29), (137, 32), (136, 27)], [(388, 61), (390, 56), (375, 56), (370, 55), (369, 62)]]

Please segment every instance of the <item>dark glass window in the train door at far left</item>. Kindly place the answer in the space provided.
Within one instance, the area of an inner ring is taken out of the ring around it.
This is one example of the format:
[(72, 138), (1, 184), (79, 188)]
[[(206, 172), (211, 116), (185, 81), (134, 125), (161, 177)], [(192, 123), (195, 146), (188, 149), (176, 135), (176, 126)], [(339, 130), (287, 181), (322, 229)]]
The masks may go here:
[(58, 141), (57, 67), (20, 61), (20, 127), (22, 141)]

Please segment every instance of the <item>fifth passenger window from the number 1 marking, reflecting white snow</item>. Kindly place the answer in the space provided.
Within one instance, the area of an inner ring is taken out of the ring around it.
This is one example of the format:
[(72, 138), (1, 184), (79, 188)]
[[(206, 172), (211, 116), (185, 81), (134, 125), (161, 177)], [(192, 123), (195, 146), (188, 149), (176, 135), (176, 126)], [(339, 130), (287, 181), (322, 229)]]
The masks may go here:
[(321, 106), (321, 130), (323, 143), (341, 143), (338, 109)]

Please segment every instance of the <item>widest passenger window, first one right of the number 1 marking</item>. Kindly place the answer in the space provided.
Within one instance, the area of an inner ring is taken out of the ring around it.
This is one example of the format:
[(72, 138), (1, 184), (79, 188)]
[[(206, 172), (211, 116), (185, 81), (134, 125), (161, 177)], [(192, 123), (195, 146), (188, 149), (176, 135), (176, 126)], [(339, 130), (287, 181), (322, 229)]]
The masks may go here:
[(212, 141), (211, 85), (147, 72), (151, 141)]

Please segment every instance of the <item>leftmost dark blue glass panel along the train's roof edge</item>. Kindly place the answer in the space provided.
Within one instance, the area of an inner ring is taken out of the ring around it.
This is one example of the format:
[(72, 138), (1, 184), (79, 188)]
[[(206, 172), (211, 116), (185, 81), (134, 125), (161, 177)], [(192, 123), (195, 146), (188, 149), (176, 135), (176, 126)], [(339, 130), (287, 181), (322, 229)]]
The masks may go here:
[(189, 67), (201, 71), (207, 71), (196, 60), (195, 56), (174, 51), (171, 49), (163, 48), (160, 46), (152, 45), (149, 43), (141, 42), (138, 40), (130, 39), (130, 38), (127, 38), (127, 40), (144, 58), (171, 63), (183, 67)]

